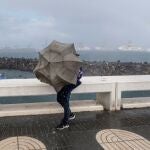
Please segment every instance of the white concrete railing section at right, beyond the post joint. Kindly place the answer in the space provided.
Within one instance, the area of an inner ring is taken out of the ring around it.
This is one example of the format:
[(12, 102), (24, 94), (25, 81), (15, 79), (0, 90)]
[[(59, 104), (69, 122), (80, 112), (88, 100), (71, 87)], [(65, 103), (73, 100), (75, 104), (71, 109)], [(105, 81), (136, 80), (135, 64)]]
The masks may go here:
[(150, 91), (150, 75), (105, 76), (115, 83), (115, 110), (150, 107), (150, 97), (122, 98), (124, 91)]

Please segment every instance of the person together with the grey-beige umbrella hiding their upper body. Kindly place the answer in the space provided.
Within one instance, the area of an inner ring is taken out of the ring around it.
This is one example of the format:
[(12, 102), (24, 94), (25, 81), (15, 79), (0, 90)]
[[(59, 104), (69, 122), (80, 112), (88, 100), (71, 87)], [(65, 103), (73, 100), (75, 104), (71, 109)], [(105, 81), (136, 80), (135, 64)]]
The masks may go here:
[(68, 128), (69, 120), (75, 118), (69, 107), (69, 99), (71, 91), (81, 84), (82, 68), (80, 71), (78, 68), (82, 66), (82, 61), (79, 56), (73, 43), (54, 40), (39, 52), (38, 64), (33, 71), (41, 82), (50, 84), (57, 92), (57, 101), (64, 108), (64, 118), (57, 126), (60, 130)]

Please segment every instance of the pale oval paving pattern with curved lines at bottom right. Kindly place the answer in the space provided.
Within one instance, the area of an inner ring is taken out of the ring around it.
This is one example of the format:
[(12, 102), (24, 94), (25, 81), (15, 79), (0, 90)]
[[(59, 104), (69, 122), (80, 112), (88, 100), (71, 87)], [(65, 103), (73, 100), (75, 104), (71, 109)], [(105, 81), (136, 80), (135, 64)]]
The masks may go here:
[(96, 140), (105, 150), (150, 149), (149, 140), (126, 130), (102, 130), (96, 134)]

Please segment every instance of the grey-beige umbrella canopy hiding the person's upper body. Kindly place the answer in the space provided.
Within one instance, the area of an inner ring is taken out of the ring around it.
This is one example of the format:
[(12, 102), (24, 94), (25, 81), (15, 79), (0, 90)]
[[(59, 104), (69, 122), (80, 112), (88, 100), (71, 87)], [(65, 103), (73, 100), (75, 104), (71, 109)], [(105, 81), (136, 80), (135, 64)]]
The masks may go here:
[(41, 82), (51, 84), (58, 92), (69, 83), (76, 84), (80, 66), (74, 44), (53, 41), (39, 53), (34, 73)]

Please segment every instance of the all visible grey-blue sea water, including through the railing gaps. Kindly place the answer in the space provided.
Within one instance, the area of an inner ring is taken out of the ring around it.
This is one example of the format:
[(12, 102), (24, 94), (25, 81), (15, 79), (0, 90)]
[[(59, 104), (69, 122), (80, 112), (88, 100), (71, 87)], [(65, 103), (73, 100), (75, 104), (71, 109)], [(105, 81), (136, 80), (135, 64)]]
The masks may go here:
[[(78, 51), (80, 58), (85, 61), (106, 61), (116, 62), (148, 62), (150, 63), (150, 52), (135, 52), (135, 51)], [(14, 58), (38, 58), (38, 52), (35, 51), (1, 51), (0, 57)], [(35, 78), (32, 72), (0, 69), (0, 74), (3, 74), (7, 79), (13, 78)], [(150, 91), (125, 91), (122, 92), (123, 98), (131, 97), (150, 97)], [(96, 99), (95, 93), (90, 94), (72, 94), (72, 100), (90, 100)], [(1, 97), (0, 104), (17, 104), (17, 103), (36, 103), (56, 101), (56, 95), (46, 96), (18, 96), (18, 97)]]

